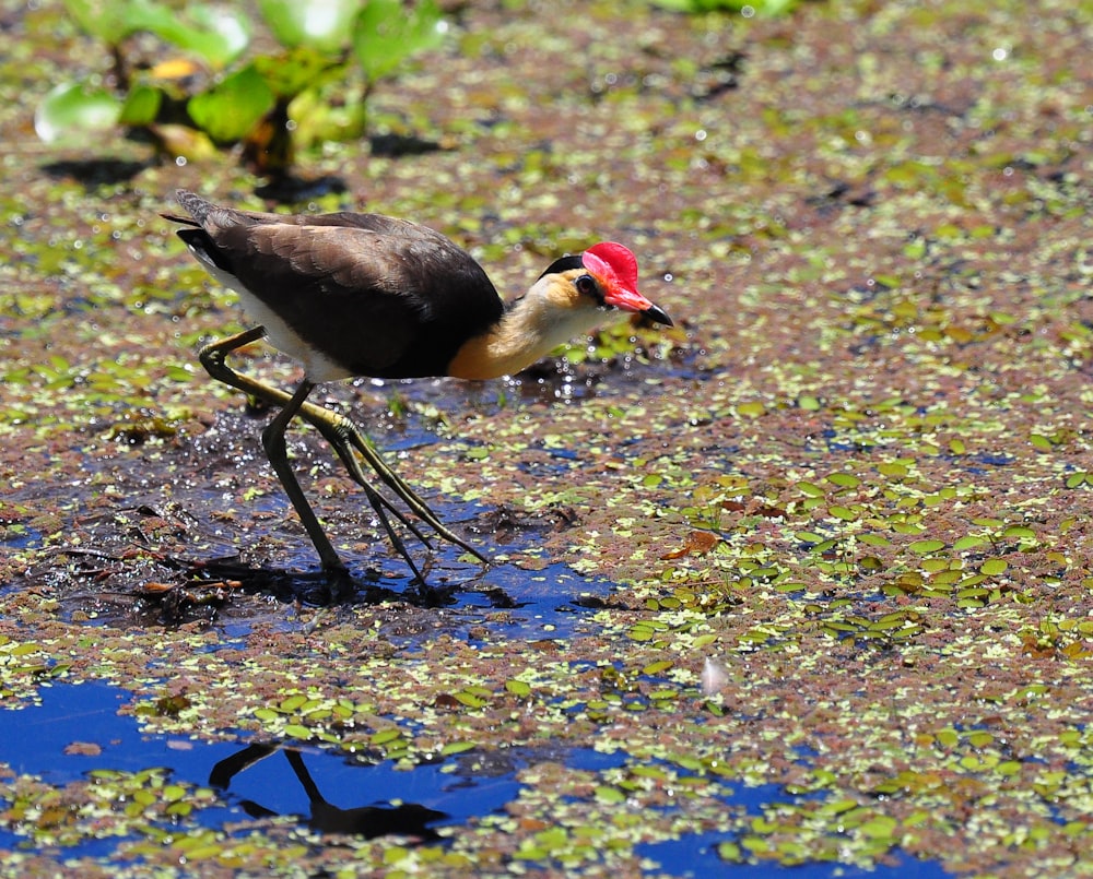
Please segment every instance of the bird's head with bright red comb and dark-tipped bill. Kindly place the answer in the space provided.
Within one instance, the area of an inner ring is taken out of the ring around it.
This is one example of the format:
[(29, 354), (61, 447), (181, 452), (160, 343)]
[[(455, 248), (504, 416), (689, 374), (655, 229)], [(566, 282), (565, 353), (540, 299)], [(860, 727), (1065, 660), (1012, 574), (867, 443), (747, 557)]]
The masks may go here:
[(637, 292), (637, 259), (630, 248), (615, 241), (601, 241), (579, 257), (556, 260), (540, 280), (557, 276), (562, 283), (555, 295), (557, 302), (571, 309), (611, 309), (642, 314), (656, 323), (672, 325), (672, 319), (660, 306)]

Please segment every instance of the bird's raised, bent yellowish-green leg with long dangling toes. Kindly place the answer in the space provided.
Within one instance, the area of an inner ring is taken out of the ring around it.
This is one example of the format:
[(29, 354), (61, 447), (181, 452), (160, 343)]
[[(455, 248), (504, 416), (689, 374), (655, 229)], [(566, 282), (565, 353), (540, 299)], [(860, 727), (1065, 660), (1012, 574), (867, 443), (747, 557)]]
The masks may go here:
[[(214, 379), (218, 379), (232, 388), (236, 388), (244, 393), (248, 393), (268, 403), (284, 406), (292, 400), (290, 394), (277, 388), (263, 384), (256, 379), (243, 376), (225, 363), (225, 358), (231, 352), (244, 345), (250, 344), (251, 342), (256, 342), (263, 335), (266, 335), (265, 329), (261, 326), (255, 326), (250, 330), (246, 330), (242, 333), (237, 333), (236, 335), (221, 340), (220, 342), (207, 345), (201, 349), (201, 364), (204, 366), (205, 371), (209, 372), (209, 375)], [(407, 504), (410, 511), (422, 520), (422, 522), (433, 528), (433, 531), (435, 531), (445, 541), (466, 549), (480, 561), (489, 563), (489, 559), (486, 559), (485, 556), (458, 535), (449, 531), (444, 523), (440, 522), (436, 514), (430, 509), (428, 504), (418, 497), (416, 492), (414, 492), (410, 485), (387, 466), (372, 443), (368, 442), (364, 436), (362, 436), (356, 425), (354, 425), (349, 418), (306, 401), (301, 402), (298, 406), (298, 415), (308, 424), (313, 425), (322, 435), (327, 442), (329, 442), (338, 453), (338, 456), (342, 460), (342, 463), (345, 465), (345, 468), (349, 471), (353, 480), (364, 488), (369, 503), (372, 503), (373, 509), (379, 516), (384, 528), (391, 538), (391, 543), (395, 545), (395, 548), (407, 560), (415, 573), (418, 572), (418, 569), (414, 566), (413, 560), (410, 558), (409, 553), (406, 550), (401, 539), (399, 539), (397, 534), (391, 528), (385, 511), (391, 512), (426, 546), (428, 545), (428, 542), (413, 525), (413, 523), (411, 523), (399, 510), (392, 507), (390, 502), (383, 497), (383, 495), (371, 486), (363, 468), (361, 467), (360, 460), (356, 454), (354, 454), (354, 449), (360, 452), (365, 463), (367, 463), (373, 472), (379, 476), (380, 480), (387, 485), (391, 491), (393, 491)]]

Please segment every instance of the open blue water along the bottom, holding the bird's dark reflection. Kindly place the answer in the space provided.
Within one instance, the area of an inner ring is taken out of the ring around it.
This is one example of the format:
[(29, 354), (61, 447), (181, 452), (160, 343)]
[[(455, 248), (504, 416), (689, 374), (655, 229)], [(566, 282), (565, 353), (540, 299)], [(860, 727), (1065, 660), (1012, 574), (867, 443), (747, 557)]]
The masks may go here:
[[(0, 711), (0, 759), (20, 773), (34, 774), (61, 786), (92, 770), (140, 772), (165, 768), (174, 782), (212, 786), (219, 796), (196, 808), (189, 819), (205, 828), (246, 827), (249, 818), (295, 816), (318, 831), (435, 836), (445, 825), (465, 824), (475, 816), (501, 813), (517, 798), (516, 773), (543, 760), (600, 772), (625, 765), (622, 752), (591, 748), (466, 752), (424, 763), (410, 771), (390, 762), (373, 764), (333, 750), (284, 749), (265, 743), (202, 743), (164, 735), (145, 735), (137, 721), (119, 715), (130, 694), (106, 684), (55, 684), (40, 690), (42, 704)], [(73, 741), (101, 746), (97, 755), (68, 752)], [(2, 798), (2, 794), (0, 794)], [(774, 801), (800, 799), (779, 787), (733, 786), (722, 798), (727, 807), (743, 806), (759, 815)], [(895, 867), (868, 871), (837, 864), (800, 867), (736, 866), (717, 855), (722, 833), (696, 833), (680, 840), (645, 843), (637, 854), (657, 865), (649, 872), (680, 877), (765, 877), (791, 879), (835, 877), (922, 877), (947, 874), (932, 863), (902, 858)], [(118, 838), (87, 839), (66, 848), (69, 857), (109, 860)], [(0, 848), (26, 844), (26, 839), (0, 829)]]

